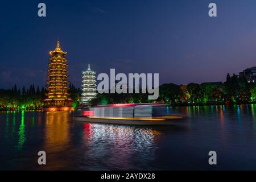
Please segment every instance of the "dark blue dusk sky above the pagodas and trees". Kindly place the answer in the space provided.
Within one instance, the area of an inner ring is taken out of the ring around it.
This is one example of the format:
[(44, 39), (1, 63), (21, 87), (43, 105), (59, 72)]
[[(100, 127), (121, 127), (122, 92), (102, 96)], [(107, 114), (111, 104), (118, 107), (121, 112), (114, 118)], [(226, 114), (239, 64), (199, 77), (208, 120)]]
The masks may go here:
[[(38, 17), (38, 3), (47, 6)], [(217, 18), (208, 16), (210, 2)], [(57, 38), (68, 52), (69, 80), (97, 73), (159, 73), (160, 84), (224, 81), (256, 66), (256, 1), (1, 2), (0, 88), (43, 86)]]

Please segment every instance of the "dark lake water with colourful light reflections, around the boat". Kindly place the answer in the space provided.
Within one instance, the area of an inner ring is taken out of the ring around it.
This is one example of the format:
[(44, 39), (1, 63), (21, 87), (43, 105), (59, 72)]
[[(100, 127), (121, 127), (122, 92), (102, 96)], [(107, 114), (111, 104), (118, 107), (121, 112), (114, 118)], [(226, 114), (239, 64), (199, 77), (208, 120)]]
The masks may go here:
[[(187, 115), (171, 126), (74, 121), (69, 112), (1, 112), (0, 169), (256, 169), (256, 105), (158, 107)], [(38, 165), (38, 151), (47, 165)], [(217, 165), (208, 152), (217, 152)]]

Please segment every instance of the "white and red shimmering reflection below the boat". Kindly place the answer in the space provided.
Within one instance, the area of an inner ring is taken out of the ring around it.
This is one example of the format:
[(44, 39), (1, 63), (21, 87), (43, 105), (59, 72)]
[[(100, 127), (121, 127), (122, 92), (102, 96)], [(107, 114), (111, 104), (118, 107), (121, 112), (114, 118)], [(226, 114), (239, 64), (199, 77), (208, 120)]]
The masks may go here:
[[(161, 135), (151, 128), (85, 123), (84, 156), (89, 163), (104, 158), (110, 169), (117, 164), (115, 167), (119, 169), (133, 169), (133, 160), (147, 165), (148, 160), (154, 159), (156, 142)], [(95, 163), (90, 167), (101, 169)]]

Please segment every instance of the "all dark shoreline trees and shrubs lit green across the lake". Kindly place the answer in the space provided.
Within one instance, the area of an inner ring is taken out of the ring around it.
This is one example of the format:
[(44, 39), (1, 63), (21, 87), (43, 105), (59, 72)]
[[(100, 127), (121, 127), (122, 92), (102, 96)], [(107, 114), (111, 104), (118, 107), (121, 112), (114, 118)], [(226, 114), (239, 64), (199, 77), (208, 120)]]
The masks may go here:
[[(74, 85), (69, 85), (68, 93), (74, 101), (73, 107), (80, 105), (81, 90)], [(28, 89), (24, 86), (18, 89), (14, 85), (11, 89), (0, 89), (0, 110), (40, 110), (47, 90), (43, 87), (35, 89), (31, 85)], [(163, 84), (159, 86), (157, 100), (148, 100), (148, 94), (97, 94), (89, 102), (89, 106), (123, 103), (160, 103), (170, 106), (205, 106), (205, 105), (240, 105), (256, 104), (256, 83), (247, 82), (243, 76), (229, 74), (225, 82), (205, 82), (203, 84)]]

